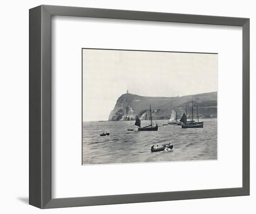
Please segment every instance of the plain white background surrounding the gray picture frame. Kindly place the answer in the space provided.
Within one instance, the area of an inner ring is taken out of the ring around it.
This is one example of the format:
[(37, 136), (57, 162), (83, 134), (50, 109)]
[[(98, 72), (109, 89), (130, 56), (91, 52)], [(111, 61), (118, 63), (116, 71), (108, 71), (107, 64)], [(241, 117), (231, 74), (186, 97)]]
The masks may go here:
[[(41, 4), (115, 8), (124, 10), (142, 10), (168, 13), (192, 13), (203, 15), (235, 16), (250, 18), (251, 58), (255, 58), (256, 44), (253, 40), (256, 31), (256, 14), (254, 2), (231, 0), (205, 2), (203, 0), (183, 1), (146, 1), (146, 0), (29, 0), (4, 1), (1, 4), (1, 195), (3, 213), (22, 212), (36, 214), (40, 209), (28, 205), (28, 9)], [(251, 60), (250, 70), (256, 69)], [(251, 72), (251, 83), (256, 81)], [(251, 84), (251, 109), (255, 108), (256, 98), (252, 94), (256, 86)], [(251, 111), (251, 121), (256, 114)], [(251, 123), (251, 130), (256, 125)], [(251, 131), (250, 150), (256, 150), (253, 142), (256, 135)], [(253, 213), (256, 201), (256, 156), (251, 156), (250, 196), (215, 199), (198, 199), (187, 201), (166, 201), (124, 205), (108, 205), (86, 208), (62, 208), (45, 210), (46, 213), (190, 213), (216, 214), (231, 212), (233, 214)]]

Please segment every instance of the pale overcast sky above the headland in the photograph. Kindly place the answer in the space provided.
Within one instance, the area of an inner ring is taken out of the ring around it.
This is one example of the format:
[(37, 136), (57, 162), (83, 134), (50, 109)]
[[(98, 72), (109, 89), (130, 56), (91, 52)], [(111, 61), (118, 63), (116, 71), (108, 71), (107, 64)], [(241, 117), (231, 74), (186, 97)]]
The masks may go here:
[(83, 121), (108, 120), (129, 90), (173, 97), (217, 91), (218, 55), (83, 49)]

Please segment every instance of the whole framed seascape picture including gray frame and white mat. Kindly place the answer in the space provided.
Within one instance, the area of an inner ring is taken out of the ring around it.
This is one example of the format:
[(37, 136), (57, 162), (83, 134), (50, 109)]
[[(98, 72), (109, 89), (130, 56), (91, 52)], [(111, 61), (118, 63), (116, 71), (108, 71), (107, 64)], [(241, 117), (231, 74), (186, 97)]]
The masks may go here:
[(249, 195), (249, 19), (29, 10), (29, 204)]

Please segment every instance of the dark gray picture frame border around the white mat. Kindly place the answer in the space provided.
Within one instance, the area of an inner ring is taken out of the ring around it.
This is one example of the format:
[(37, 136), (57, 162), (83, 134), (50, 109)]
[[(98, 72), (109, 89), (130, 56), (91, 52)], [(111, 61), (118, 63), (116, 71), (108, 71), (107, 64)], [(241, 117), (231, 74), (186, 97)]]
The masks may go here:
[[(132, 19), (243, 27), (243, 187), (52, 198), (51, 17)], [(249, 19), (41, 5), (29, 10), (29, 204), (64, 208), (249, 195)]]

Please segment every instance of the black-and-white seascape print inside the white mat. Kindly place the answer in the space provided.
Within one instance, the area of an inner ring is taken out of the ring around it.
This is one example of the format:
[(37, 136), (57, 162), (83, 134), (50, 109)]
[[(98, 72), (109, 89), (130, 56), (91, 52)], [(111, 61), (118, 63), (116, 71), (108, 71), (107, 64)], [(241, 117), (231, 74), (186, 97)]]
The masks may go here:
[(217, 160), (218, 54), (82, 49), (82, 163)]

